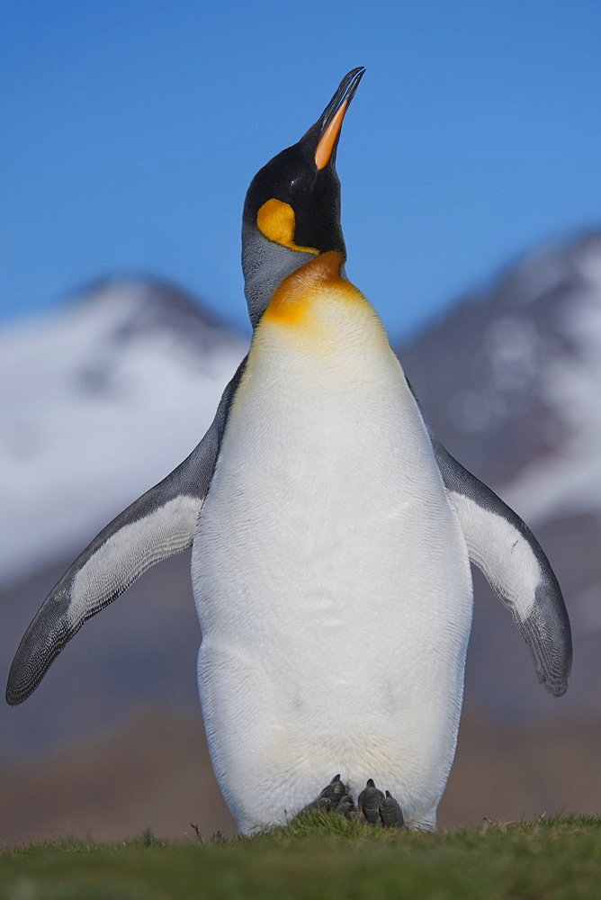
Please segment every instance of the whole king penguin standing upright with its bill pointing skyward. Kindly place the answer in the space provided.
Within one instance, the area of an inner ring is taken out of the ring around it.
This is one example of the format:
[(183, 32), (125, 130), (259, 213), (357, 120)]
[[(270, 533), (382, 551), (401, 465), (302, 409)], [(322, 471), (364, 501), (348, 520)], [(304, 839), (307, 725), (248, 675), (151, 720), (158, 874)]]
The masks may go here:
[(211, 428), (58, 581), (6, 691), (21, 703), (86, 619), (192, 545), (202, 714), (245, 833), (312, 806), (435, 828), (462, 707), (470, 563), (546, 689), (561, 696), (570, 677), (570, 622), (543, 550), (429, 430), (346, 278), (335, 159), (363, 71), (250, 184), (253, 338)]

